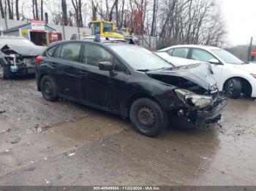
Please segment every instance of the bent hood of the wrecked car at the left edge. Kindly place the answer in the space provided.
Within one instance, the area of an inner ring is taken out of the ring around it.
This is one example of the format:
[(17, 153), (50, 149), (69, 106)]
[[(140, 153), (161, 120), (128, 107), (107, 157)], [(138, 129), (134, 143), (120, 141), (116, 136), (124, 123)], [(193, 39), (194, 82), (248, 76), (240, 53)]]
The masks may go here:
[(10, 44), (6, 44), (4, 46), (1, 47), (1, 52), (4, 52), (5, 54), (7, 54), (6, 52), (16, 52), (18, 55), (22, 55), (22, 56), (37, 56), (42, 54), (42, 52), (44, 52), (44, 50), (46, 49), (46, 47), (41, 47), (41, 46), (20, 46), (20, 45), (10, 45)]

